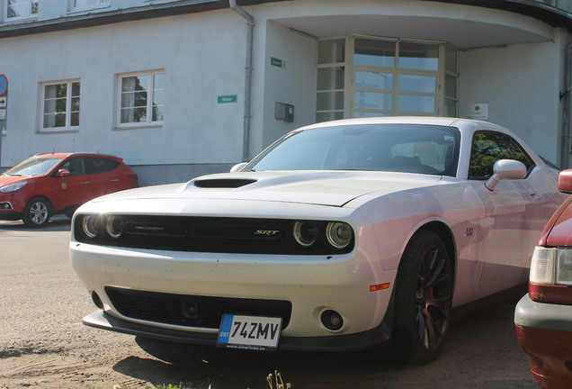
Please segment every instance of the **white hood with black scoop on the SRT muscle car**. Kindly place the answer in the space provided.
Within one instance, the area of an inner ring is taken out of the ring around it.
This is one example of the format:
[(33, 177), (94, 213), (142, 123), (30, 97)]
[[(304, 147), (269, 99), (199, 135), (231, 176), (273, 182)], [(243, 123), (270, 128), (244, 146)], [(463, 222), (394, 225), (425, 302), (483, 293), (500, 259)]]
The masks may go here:
[(435, 185), (442, 176), (388, 172), (247, 172), (201, 176), (185, 184), (149, 186), (105, 195), (113, 199), (228, 199), (344, 206), (362, 195)]

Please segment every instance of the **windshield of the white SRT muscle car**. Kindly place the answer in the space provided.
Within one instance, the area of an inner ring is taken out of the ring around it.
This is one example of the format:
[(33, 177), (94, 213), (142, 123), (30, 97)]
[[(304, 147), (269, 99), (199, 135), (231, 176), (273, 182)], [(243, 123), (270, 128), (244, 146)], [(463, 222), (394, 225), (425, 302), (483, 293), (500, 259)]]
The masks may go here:
[(460, 131), (423, 124), (357, 124), (295, 131), (248, 170), (371, 170), (455, 176)]

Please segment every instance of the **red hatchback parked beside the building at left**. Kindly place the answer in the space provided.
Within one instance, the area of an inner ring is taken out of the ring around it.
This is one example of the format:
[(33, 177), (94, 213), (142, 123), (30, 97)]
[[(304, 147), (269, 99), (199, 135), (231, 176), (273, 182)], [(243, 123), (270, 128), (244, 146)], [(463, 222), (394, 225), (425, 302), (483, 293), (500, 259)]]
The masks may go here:
[(137, 175), (118, 157), (38, 154), (0, 176), (0, 220), (22, 219), (28, 227), (42, 227), (54, 214), (71, 217), (95, 197), (137, 186)]

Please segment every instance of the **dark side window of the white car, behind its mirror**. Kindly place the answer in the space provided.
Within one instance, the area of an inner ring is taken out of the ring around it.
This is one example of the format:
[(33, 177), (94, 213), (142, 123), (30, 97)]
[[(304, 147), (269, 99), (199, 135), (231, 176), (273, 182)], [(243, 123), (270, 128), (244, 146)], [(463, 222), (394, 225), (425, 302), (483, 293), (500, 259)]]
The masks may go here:
[(508, 135), (482, 131), (475, 133), (469, 162), (469, 179), (486, 180), (493, 175), (493, 166), (499, 159), (523, 162), (530, 171), (534, 164), (520, 145)]

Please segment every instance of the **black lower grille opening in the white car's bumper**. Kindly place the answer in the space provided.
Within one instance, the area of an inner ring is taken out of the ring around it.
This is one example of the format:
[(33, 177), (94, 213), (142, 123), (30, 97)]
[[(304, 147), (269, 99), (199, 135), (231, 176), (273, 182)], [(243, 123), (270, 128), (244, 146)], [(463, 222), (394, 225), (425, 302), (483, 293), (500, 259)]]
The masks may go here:
[(113, 306), (123, 316), (185, 327), (218, 329), (223, 314), (281, 317), (288, 327), (292, 304), (283, 300), (209, 297), (105, 287)]

